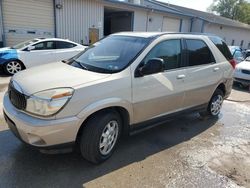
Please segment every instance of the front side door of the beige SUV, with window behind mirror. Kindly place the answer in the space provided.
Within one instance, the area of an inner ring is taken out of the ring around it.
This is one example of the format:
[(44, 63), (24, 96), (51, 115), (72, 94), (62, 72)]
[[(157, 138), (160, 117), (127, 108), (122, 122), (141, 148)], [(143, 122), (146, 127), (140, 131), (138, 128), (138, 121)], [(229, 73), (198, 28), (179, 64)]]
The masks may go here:
[(186, 72), (181, 68), (181, 46), (181, 39), (166, 40), (153, 47), (144, 58), (142, 63), (152, 58), (163, 59), (165, 71), (132, 78), (134, 123), (182, 108)]

